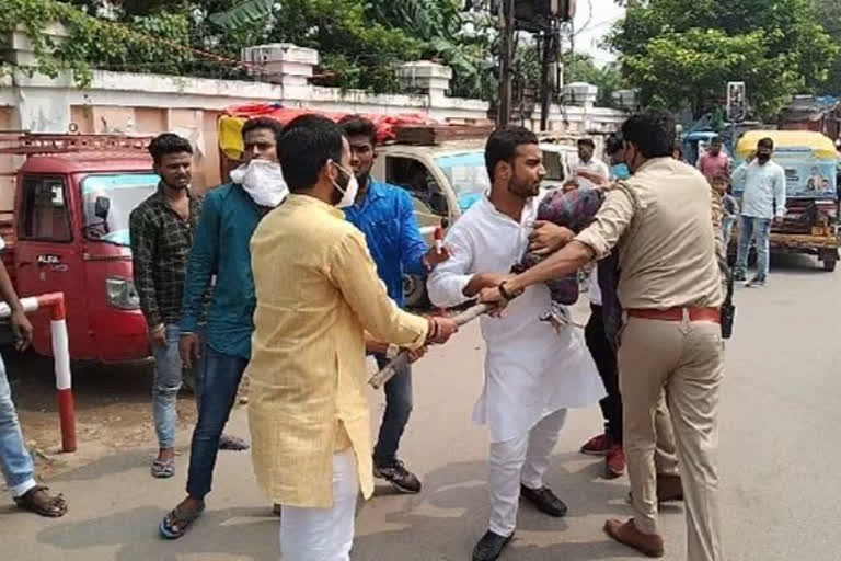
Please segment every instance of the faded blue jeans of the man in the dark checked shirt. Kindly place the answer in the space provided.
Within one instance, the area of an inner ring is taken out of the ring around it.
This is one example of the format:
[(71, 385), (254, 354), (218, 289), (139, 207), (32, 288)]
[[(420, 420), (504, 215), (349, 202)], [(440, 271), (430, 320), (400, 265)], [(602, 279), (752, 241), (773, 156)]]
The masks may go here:
[(152, 344), (154, 356), (154, 381), (152, 381), (152, 416), (158, 433), (158, 446), (172, 448), (175, 445), (175, 428), (178, 424), (178, 390), (181, 389), (181, 355), (178, 341), (181, 329), (177, 323), (164, 328), (166, 344)]

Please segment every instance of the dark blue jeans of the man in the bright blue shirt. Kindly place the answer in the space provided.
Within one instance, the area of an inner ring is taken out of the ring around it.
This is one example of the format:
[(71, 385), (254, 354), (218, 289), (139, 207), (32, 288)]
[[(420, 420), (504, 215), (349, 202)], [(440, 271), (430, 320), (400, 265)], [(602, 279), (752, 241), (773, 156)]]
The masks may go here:
[[(389, 360), (382, 355), (375, 355), (377, 366), (382, 369)], [(373, 463), (390, 466), (398, 459), (400, 438), (412, 414), (412, 368), (401, 368), (385, 383), (385, 412), (382, 415), (380, 436), (373, 448)]]

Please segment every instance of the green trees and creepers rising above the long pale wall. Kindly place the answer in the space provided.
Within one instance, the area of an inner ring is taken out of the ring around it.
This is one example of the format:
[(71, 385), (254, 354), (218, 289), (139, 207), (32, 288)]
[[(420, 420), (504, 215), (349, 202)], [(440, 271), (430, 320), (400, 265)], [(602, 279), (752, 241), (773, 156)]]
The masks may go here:
[[(243, 78), (243, 47), (288, 42), (316, 48), (315, 83), (398, 91), (405, 61), (439, 59), (453, 68), (452, 91), (491, 99), (496, 22), (463, 12), (460, 0), (7, 0), (0, 42), (23, 23), (36, 37), (38, 66), (55, 76), (71, 69), (87, 83), (91, 68)], [(70, 32), (54, 56), (43, 22)], [(2, 45), (0, 45), (1, 47)], [(204, 51), (205, 54), (203, 54)], [(209, 54), (208, 54), (209, 53)]]

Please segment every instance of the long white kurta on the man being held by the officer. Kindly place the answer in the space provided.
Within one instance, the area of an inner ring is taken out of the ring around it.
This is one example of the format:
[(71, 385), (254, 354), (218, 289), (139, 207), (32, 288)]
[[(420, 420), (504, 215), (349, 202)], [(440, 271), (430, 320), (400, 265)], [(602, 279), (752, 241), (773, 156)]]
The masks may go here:
[[(464, 287), (476, 273), (506, 273), (529, 243), (538, 201), (523, 210), (520, 222), (477, 201), (447, 233), (449, 261), (429, 276), (429, 298), (438, 307), (464, 302)], [(581, 408), (604, 397), (590, 354), (575, 328), (558, 333), (541, 314), (550, 308), (544, 285), (529, 287), (510, 302), (502, 318), (483, 317), (487, 345), (485, 386), (473, 420), (487, 424), (491, 442), (522, 436), (541, 419), (564, 408)]]

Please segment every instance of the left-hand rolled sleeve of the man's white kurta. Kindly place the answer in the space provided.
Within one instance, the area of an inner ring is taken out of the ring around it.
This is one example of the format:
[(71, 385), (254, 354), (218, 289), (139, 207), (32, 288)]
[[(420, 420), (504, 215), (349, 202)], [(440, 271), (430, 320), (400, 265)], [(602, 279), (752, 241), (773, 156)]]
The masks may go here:
[(429, 301), (438, 308), (452, 308), (470, 300), (464, 288), (473, 278), (473, 252), (458, 225), (447, 234), (446, 243), (450, 259), (439, 263), (426, 282)]

